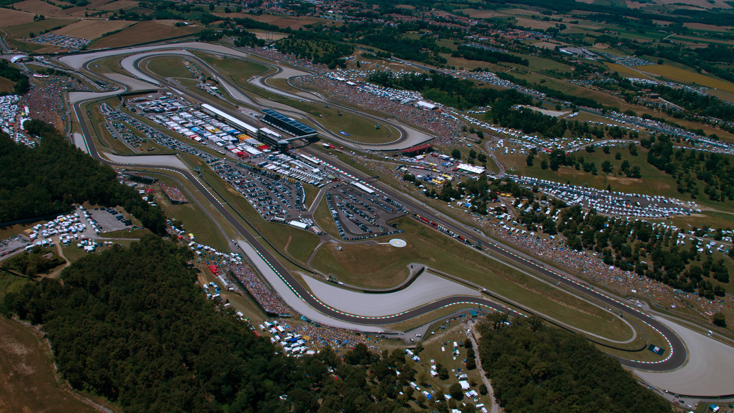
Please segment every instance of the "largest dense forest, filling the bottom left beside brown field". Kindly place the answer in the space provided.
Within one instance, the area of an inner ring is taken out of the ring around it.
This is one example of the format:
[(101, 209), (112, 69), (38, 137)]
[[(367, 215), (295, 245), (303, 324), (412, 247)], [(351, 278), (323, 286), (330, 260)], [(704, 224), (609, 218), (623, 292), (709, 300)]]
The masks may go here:
[(343, 360), (330, 348), (286, 357), (206, 298), (186, 265), (191, 256), (149, 235), (79, 259), (60, 281), (7, 292), (4, 304), (43, 324), (75, 389), (128, 413), (413, 412), (415, 370), (402, 351), (359, 344)]

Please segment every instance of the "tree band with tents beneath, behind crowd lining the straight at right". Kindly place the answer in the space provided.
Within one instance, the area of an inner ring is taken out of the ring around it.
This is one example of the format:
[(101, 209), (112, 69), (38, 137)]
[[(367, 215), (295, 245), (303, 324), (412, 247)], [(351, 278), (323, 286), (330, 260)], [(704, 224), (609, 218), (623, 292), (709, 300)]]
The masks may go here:
[[(465, 195), (465, 190), (468, 193), (475, 187), (484, 190), (483, 185), (475, 182), (470, 180), (455, 188), (448, 184), (441, 193), (436, 194), (432, 190), (426, 195), (446, 201), (450, 201), (449, 196), (458, 199)], [(471, 201), (472, 212), (486, 215), (483, 212), (487, 211), (486, 206), (482, 209), (475, 202), (484, 203), (496, 198), (498, 193), (511, 193), (516, 198), (516, 208), (525, 204), (525, 207), (520, 208), (518, 221), (528, 231), (563, 234), (569, 248), (594, 251), (600, 254), (606, 265), (614, 265), (676, 289), (696, 292), (708, 300), (726, 293), (722, 285), (713, 285), (711, 281), (712, 278), (722, 284), (730, 281), (724, 259), (715, 260), (711, 255), (700, 253), (698, 249), (702, 243), (699, 240), (692, 239), (688, 240), (688, 245), (677, 245), (679, 233), (672, 229), (653, 226), (644, 220), (606, 217), (593, 209), (585, 213), (579, 205), (568, 206), (546, 195), (538, 197), (538, 187), (528, 189), (508, 178), (493, 180), (484, 192), (486, 195), (477, 193), (478, 196)], [(500, 214), (506, 211), (498, 206), (495, 212)], [(559, 213), (559, 218), (553, 220), (551, 217), (556, 213)], [(706, 229), (694, 230), (697, 236), (708, 232)], [(713, 238), (721, 240), (722, 237), (719, 229)], [(734, 258), (734, 248), (730, 249), (730, 257)]]

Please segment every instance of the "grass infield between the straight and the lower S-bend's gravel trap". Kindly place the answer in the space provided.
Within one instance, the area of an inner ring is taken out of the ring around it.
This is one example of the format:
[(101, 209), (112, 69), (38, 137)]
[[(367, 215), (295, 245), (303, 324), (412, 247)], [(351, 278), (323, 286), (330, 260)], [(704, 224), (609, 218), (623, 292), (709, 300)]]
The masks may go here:
[[(324, 209), (319, 208), (316, 211), (314, 220), (324, 231), (333, 231), (324, 225), (327, 218), (331, 219), (330, 215), (324, 216)], [(418, 262), (485, 286), (504, 297), (524, 303), (531, 309), (564, 320), (578, 328), (599, 331), (597, 334), (608, 335), (611, 340), (625, 340), (630, 337), (629, 328), (621, 321), (585, 301), (495, 262), (457, 241), (437, 234), (435, 230), (412, 218), (399, 218), (396, 222), (398, 228), (405, 231), (400, 234), (401, 239), (408, 244), (408, 247), (401, 248), (399, 254), (394, 248), (392, 251), (385, 248), (385, 245), (370, 247), (341, 243), (342, 251), (322, 246), (312, 265), (324, 273), (328, 270), (346, 284), (385, 288), (399, 284), (406, 278), (405, 265)], [(379, 238), (377, 242), (381, 242)], [(583, 309), (583, 312), (578, 311), (579, 309)]]

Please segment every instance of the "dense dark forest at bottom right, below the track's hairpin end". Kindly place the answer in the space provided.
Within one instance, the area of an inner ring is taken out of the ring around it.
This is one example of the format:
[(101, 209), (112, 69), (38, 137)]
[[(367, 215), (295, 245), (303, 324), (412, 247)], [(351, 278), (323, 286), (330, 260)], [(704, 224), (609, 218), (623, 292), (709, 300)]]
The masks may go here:
[(510, 326), (506, 321), (495, 314), (479, 326), (482, 366), (505, 412), (672, 411), (581, 334), (535, 318)]

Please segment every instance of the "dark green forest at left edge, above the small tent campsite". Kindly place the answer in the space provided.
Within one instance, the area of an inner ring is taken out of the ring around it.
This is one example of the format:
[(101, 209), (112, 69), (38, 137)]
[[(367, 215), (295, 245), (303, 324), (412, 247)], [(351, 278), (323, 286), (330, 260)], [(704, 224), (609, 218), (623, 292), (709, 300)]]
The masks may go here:
[(117, 174), (95, 161), (43, 121), (26, 121), (30, 134), (40, 137), (35, 148), (0, 133), (0, 222), (43, 217), (89, 201), (124, 206), (146, 228), (165, 234), (166, 218), (136, 190), (117, 182)]

